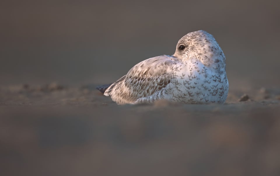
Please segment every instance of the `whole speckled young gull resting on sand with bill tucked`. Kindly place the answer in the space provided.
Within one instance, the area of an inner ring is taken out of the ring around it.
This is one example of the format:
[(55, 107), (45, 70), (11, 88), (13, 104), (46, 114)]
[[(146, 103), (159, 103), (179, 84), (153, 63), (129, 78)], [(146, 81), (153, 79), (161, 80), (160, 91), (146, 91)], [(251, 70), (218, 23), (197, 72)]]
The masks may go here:
[(178, 41), (173, 55), (146, 59), (97, 89), (117, 104), (223, 104), (229, 89), (225, 60), (213, 35), (194, 31)]

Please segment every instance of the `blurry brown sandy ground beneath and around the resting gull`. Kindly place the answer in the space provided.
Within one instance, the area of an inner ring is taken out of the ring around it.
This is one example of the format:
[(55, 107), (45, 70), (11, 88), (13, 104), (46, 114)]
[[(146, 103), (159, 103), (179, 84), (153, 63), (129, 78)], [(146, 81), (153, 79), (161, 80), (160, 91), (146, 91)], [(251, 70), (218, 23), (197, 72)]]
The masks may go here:
[(119, 106), (95, 86), (2, 87), (1, 175), (280, 175), (280, 89)]

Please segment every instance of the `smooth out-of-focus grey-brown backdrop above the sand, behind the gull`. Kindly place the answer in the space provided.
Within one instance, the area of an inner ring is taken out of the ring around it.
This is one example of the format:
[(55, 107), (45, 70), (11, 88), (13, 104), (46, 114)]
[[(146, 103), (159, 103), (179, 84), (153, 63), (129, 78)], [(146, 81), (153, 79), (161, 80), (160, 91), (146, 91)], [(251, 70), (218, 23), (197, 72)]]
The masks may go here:
[(0, 84), (109, 83), (174, 54), (186, 33), (214, 35), (231, 88), (276, 86), (278, 1), (1, 1)]

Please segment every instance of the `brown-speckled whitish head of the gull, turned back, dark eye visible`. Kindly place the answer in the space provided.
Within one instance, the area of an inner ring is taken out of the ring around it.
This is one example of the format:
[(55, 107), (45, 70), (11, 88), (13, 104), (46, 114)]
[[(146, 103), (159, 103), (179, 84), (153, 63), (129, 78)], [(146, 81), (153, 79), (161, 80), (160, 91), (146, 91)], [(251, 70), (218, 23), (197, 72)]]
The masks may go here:
[(196, 59), (205, 66), (225, 68), (225, 55), (213, 35), (206, 31), (190, 32), (177, 43), (174, 57), (183, 62)]

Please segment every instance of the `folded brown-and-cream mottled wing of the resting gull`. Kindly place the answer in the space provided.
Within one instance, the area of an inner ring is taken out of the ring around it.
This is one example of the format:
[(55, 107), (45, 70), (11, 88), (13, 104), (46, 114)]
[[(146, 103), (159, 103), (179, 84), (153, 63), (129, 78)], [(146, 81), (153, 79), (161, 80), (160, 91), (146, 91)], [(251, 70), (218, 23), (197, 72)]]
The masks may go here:
[(142, 61), (108, 87), (104, 95), (118, 104), (133, 103), (166, 87), (174, 78), (174, 67), (179, 62), (172, 56), (157, 56)]

